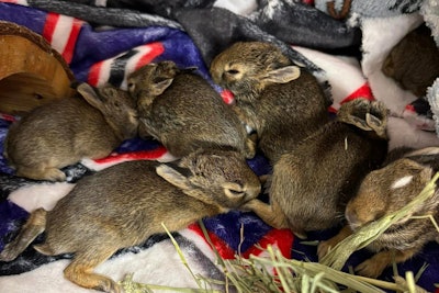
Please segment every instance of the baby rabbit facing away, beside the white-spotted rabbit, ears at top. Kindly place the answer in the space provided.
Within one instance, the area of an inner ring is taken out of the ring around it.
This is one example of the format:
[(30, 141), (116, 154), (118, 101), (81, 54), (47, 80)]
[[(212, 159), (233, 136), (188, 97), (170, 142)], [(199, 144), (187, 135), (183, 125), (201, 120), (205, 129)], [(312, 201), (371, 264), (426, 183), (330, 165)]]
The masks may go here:
[(254, 200), (245, 207), (269, 225), (290, 228), (302, 238), (307, 230), (339, 223), (360, 180), (385, 158), (386, 119), (381, 102), (356, 99), (342, 104), (335, 121), (274, 164), (270, 204)]

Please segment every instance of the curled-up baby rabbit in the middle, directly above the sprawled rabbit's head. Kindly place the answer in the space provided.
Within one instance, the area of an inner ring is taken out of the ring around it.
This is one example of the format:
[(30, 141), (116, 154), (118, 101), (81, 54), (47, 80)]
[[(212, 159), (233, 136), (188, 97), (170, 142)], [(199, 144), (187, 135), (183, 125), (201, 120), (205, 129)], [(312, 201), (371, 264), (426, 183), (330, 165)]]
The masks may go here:
[[(192, 70), (193, 71), (193, 70)], [(140, 128), (175, 156), (202, 148), (235, 148), (255, 156), (255, 143), (237, 115), (209, 82), (173, 61), (148, 64), (128, 77)]]

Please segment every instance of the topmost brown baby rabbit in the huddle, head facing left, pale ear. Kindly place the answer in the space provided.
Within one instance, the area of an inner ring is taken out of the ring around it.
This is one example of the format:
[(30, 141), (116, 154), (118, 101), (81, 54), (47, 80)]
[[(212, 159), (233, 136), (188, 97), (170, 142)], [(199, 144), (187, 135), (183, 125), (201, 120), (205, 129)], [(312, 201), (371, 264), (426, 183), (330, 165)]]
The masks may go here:
[(213, 59), (211, 75), (234, 93), (234, 110), (272, 162), (328, 122), (331, 101), (316, 78), (272, 44), (235, 43)]

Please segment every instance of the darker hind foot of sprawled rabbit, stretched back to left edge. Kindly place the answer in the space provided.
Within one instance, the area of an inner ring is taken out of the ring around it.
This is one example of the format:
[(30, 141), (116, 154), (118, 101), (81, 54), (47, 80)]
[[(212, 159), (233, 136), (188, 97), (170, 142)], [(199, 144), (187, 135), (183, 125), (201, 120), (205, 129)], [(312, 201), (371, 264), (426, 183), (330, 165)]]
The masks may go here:
[(26, 247), (46, 228), (46, 214), (44, 209), (34, 211), (23, 225), (16, 238), (8, 244), (0, 253), (1, 261), (15, 259)]

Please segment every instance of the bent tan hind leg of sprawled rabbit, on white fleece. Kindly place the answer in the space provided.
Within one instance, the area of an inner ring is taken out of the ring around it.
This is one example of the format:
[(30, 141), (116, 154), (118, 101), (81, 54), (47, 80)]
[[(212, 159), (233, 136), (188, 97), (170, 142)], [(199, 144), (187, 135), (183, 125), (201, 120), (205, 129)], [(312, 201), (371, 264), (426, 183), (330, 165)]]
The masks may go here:
[(98, 264), (109, 259), (117, 249), (119, 247), (103, 247), (101, 245), (88, 251), (77, 251), (71, 263), (64, 270), (64, 275), (67, 280), (82, 288), (121, 293), (123, 290), (116, 282), (105, 275), (92, 272)]

